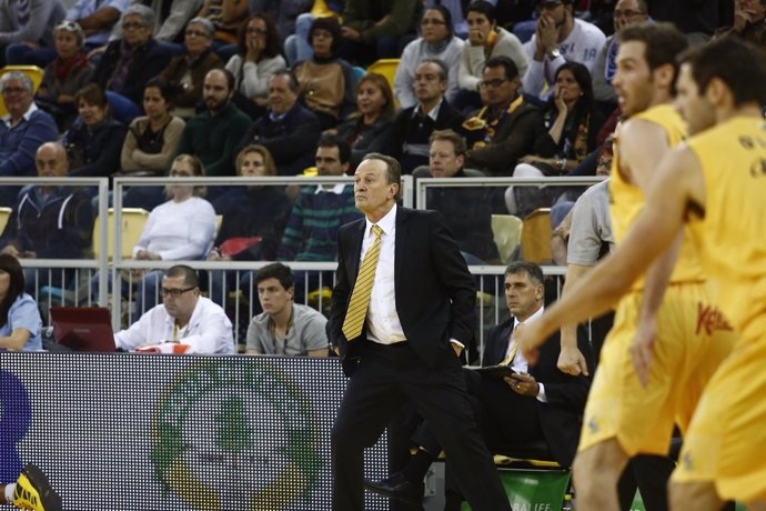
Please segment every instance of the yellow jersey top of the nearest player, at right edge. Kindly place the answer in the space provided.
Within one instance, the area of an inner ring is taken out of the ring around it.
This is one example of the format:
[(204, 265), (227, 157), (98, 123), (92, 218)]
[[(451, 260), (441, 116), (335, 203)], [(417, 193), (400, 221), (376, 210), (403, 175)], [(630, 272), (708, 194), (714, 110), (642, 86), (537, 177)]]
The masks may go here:
[(730, 119), (688, 141), (705, 178), (689, 227), (712, 300), (738, 331), (766, 312), (766, 122)]

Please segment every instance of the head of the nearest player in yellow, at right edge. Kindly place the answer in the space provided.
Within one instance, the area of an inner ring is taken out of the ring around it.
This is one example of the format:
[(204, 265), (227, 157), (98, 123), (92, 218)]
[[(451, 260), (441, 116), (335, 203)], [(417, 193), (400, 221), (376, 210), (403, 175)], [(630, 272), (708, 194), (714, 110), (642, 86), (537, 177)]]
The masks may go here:
[(736, 109), (760, 111), (764, 83), (766, 57), (758, 48), (738, 38), (716, 39), (682, 54), (676, 108), (689, 132), (698, 133)]

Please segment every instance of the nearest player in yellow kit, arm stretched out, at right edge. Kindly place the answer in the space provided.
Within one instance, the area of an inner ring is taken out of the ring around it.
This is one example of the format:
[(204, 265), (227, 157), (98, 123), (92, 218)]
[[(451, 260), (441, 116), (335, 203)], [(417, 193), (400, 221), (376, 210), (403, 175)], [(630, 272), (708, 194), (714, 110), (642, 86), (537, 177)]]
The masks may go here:
[[(729, 499), (766, 510), (764, 83), (766, 58), (737, 39), (715, 40), (684, 57), (676, 103), (696, 134), (663, 159), (645, 208), (616, 251), (528, 324), (521, 340), (533, 355), (533, 347), (562, 322), (608, 308), (688, 223), (712, 295), (737, 341), (685, 437), (671, 484), (677, 511), (718, 510)], [(720, 321), (717, 314), (701, 318), (701, 330)]]

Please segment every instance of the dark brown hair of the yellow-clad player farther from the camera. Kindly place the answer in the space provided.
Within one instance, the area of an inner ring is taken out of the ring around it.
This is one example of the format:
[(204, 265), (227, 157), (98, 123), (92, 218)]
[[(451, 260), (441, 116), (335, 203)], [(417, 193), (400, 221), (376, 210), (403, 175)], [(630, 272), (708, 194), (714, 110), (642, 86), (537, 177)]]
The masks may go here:
[(619, 34), (621, 43), (644, 43), (644, 59), (651, 71), (663, 66), (673, 67), (671, 93), (675, 96), (675, 77), (678, 74), (678, 54), (688, 48), (688, 41), (673, 23), (638, 23), (625, 27)]

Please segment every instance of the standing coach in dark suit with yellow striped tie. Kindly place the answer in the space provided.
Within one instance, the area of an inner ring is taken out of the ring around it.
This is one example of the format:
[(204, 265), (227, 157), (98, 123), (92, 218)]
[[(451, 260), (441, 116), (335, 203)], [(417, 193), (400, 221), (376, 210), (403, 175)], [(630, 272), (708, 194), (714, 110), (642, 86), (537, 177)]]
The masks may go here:
[[(330, 331), (351, 380), (332, 430), (333, 510), (364, 509), (363, 451), (410, 400), (453, 461), (472, 508), (510, 511), (453, 348), (472, 335), (473, 279), (439, 213), (396, 206), (400, 177), (396, 160), (367, 154), (354, 174), (365, 219), (339, 231)], [(369, 253), (380, 255), (356, 329)]]

